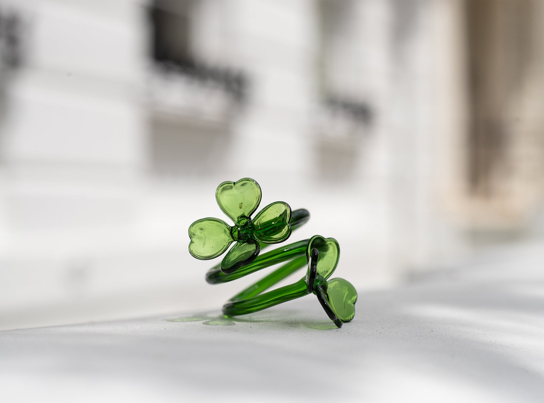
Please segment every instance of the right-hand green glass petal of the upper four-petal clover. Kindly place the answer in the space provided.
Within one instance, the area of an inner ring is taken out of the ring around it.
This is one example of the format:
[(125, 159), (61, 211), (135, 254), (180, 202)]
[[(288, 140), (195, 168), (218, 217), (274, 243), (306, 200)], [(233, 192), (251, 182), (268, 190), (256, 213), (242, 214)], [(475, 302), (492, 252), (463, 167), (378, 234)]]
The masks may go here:
[(278, 243), (291, 235), (291, 207), (275, 202), (264, 207), (253, 219), (253, 235), (262, 243)]

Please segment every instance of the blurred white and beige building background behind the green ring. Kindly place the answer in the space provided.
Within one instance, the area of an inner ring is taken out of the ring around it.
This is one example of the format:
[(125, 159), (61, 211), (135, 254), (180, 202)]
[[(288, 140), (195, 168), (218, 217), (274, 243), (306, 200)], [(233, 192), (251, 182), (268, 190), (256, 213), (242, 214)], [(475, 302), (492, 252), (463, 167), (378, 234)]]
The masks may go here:
[(0, 329), (219, 308), (242, 285), (206, 284), (187, 228), (243, 177), (359, 289), (540, 240), (543, 24), (538, 1), (1, 1)]

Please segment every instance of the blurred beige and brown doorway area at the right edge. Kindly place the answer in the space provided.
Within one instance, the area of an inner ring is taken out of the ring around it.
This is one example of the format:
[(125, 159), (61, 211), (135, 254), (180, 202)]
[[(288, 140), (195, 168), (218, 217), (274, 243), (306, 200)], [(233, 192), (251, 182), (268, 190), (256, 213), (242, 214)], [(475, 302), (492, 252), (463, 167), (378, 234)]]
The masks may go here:
[[(467, 227), (522, 234), (542, 211), (542, 2), (467, 2)], [(485, 236), (485, 235), (484, 235)]]

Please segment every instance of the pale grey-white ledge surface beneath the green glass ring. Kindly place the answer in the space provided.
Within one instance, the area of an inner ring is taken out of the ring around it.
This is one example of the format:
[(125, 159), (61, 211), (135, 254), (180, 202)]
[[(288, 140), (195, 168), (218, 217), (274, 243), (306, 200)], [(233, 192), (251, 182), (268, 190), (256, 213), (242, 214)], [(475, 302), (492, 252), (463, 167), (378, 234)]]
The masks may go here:
[[(169, 319), (176, 319), (171, 321)], [(360, 292), (335, 328), (314, 295), (219, 312), (0, 332), (2, 401), (544, 401), (544, 247)]]

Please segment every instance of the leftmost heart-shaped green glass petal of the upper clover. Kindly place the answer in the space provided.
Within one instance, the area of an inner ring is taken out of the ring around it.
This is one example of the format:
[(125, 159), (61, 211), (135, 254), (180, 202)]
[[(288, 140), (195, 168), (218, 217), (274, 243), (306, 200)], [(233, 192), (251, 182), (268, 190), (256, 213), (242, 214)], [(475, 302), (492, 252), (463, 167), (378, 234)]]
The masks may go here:
[(233, 240), (231, 228), (219, 218), (202, 218), (189, 226), (189, 252), (200, 260), (213, 259), (227, 250)]

